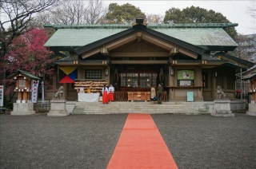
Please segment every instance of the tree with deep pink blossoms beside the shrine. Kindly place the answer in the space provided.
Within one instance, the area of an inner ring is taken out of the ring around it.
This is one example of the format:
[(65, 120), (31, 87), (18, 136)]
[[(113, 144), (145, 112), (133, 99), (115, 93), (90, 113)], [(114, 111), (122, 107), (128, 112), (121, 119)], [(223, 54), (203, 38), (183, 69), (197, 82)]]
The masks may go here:
[[(50, 66), (50, 49), (43, 46), (49, 39), (45, 29), (29, 29), (15, 38), (10, 45), (10, 52), (0, 63), (7, 74), (15, 73), (18, 69), (38, 76), (43, 74), (49, 79), (54, 74), (54, 68)], [(1, 70), (0, 70), (1, 71)], [(5, 79), (6, 84), (8, 80)], [(47, 81), (45, 83), (47, 85)], [(6, 87), (6, 93), (10, 92), (11, 85)]]

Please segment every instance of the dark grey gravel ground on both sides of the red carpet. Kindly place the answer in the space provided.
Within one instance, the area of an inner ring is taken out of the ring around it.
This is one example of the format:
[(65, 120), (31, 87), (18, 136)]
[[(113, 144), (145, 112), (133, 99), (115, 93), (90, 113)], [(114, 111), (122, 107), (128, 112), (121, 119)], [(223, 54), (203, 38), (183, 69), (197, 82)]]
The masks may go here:
[[(0, 114), (0, 168), (106, 168), (127, 114)], [(256, 117), (152, 115), (179, 169), (256, 168)]]

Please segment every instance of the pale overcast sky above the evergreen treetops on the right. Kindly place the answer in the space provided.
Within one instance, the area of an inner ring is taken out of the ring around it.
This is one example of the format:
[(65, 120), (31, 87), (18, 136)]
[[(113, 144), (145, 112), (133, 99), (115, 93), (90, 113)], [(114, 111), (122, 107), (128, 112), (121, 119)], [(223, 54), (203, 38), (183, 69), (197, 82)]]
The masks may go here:
[[(255, 0), (254, 0), (255, 1)], [(230, 22), (238, 23), (237, 29), (238, 33), (242, 34), (252, 34), (256, 33), (256, 19), (250, 17), (249, 14), (246, 14), (247, 6), (252, 6), (252, 1), (174, 1), (174, 0), (166, 0), (166, 1), (109, 1), (105, 0), (106, 5), (108, 6), (110, 3), (118, 3), (122, 5), (124, 3), (130, 3), (136, 7), (138, 7), (142, 12), (146, 14), (162, 14), (165, 16), (166, 10), (170, 8), (179, 8), (180, 10), (190, 7), (190, 6), (199, 6), (206, 10), (214, 10), (215, 12), (222, 13)], [(255, 5), (256, 3), (254, 3)], [(256, 7), (255, 7), (256, 9)]]

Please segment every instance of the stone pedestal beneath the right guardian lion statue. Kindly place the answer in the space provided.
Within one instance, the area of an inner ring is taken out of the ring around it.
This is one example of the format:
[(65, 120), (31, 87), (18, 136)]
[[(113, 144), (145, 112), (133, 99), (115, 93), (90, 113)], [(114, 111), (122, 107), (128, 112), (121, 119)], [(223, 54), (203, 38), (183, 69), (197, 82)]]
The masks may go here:
[(234, 116), (230, 108), (230, 100), (214, 100), (212, 116)]

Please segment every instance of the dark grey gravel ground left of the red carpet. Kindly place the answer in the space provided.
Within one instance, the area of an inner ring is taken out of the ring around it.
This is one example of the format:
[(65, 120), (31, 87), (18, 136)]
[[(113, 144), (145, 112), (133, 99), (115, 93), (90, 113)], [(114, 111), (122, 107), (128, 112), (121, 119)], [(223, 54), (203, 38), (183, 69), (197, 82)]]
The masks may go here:
[(106, 168), (126, 115), (0, 115), (0, 168)]

